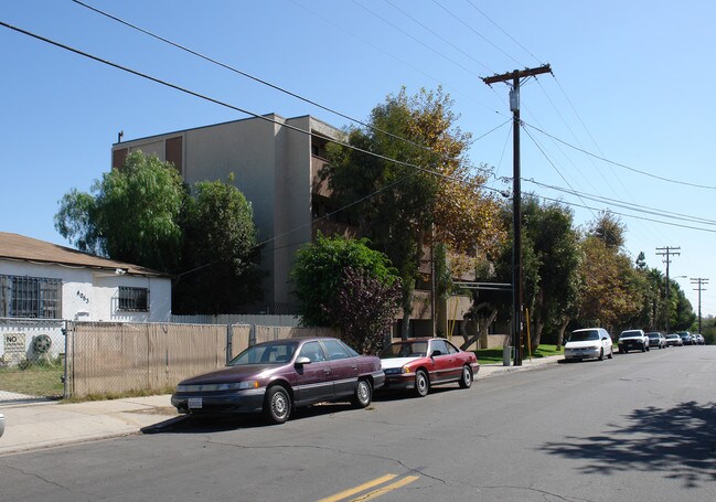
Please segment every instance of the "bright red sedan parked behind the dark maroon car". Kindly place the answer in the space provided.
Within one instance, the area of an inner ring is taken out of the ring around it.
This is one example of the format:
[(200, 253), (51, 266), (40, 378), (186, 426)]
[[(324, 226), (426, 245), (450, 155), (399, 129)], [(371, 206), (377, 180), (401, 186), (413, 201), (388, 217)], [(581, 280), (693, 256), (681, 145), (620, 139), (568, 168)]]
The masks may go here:
[(385, 372), (383, 388), (413, 389), (419, 397), (439, 384), (458, 382), (460, 387), (468, 388), (480, 371), (474, 353), (461, 351), (440, 338), (393, 342), (378, 356)]

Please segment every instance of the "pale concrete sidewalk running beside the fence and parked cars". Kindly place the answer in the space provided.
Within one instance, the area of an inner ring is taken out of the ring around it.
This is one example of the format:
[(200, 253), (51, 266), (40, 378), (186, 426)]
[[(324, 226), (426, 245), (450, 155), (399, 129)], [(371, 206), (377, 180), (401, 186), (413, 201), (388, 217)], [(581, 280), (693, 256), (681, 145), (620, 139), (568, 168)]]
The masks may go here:
[[(483, 364), (477, 380), (557, 364), (563, 357), (527, 359), (522, 366)], [(171, 425), (182, 415), (171, 406), (170, 397), (161, 395), (74, 404), (0, 404), (0, 414), (6, 417), (4, 435), (0, 437), (0, 456), (128, 436), (142, 429)]]

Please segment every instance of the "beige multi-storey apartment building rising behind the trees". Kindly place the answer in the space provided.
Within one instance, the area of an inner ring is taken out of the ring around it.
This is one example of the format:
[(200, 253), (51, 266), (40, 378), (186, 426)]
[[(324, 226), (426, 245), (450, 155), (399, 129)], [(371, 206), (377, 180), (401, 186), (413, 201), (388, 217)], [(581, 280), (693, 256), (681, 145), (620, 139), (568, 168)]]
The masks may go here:
[[(325, 164), (322, 152), (327, 139), (341, 135), (311, 116), (271, 114), (118, 142), (111, 162), (113, 168), (121, 167), (136, 150), (153, 153), (172, 162), (189, 184), (226, 180), (233, 172), (234, 184), (253, 205), (259, 239), (266, 243), (261, 255), (261, 268), (268, 271), (266, 311), (292, 313), (288, 274), (296, 250), (311, 242), (317, 229), (328, 235), (351, 232), (339, 221), (320, 218), (336, 209), (318, 177)], [(462, 319), (469, 300), (460, 298), (440, 309), (444, 318)], [(428, 292), (418, 291), (410, 330), (416, 335), (431, 332), (429, 303)]]

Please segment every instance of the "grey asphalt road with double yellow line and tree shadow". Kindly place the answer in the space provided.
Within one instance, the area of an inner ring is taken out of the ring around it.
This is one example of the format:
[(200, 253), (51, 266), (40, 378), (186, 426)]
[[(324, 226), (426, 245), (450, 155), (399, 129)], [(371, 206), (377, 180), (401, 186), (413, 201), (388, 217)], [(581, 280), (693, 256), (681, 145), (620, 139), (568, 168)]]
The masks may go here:
[(716, 346), (0, 458), (2, 501), (714, 501)]

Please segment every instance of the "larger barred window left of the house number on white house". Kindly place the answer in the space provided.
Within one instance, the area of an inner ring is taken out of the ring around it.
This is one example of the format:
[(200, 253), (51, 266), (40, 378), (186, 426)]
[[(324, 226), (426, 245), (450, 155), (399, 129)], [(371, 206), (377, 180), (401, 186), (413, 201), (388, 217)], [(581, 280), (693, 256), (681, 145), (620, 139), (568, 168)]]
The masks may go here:
[(60, 319), (62, 280), (0, 276), (0, 317)]

